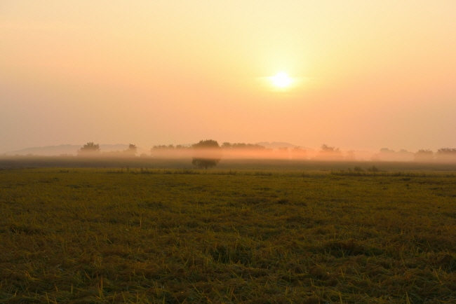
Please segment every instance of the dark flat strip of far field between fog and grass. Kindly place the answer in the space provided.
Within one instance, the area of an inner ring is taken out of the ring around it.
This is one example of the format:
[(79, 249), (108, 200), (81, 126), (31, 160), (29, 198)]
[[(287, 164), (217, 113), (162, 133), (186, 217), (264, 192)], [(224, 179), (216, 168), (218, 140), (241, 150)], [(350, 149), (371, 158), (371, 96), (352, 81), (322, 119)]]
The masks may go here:
[[(222, 159), (217, 170), (272, 170), (272, 171), (330, 171), (361, 167), (366, 170), (375, 165), (384, 171), (446, 171), (456, 172), (456, 163), (419, 162), (371, 162), (371, 161), (323, 161), (285, 159)], [(148, 169), (192, 169), (192, 158), (83, 158), (75, 156), (0, 156), (1, 169), (33, 167), (106, 167)]]

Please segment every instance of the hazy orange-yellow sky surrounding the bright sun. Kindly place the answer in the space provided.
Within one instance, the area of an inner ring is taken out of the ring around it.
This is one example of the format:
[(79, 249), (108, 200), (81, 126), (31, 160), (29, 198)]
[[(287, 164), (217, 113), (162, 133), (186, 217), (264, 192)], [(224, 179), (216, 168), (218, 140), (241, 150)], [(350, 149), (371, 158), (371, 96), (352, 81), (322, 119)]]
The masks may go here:
[(0, 152), (456, 148), (455, 54), (454, 0), (0, 0)]

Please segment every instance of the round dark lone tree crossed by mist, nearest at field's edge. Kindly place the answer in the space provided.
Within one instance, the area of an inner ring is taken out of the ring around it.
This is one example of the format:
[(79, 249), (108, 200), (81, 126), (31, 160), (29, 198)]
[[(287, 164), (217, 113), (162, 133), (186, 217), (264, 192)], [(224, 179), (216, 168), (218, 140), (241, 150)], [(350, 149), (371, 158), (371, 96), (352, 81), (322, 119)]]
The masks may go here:
[(215, 167), (222, 158), (220, 146), (213, 139), (201, 140), (197, 144), (193, 144), (195, 157), (192, 159), (192, 165), (206, 170), (210, 167)]

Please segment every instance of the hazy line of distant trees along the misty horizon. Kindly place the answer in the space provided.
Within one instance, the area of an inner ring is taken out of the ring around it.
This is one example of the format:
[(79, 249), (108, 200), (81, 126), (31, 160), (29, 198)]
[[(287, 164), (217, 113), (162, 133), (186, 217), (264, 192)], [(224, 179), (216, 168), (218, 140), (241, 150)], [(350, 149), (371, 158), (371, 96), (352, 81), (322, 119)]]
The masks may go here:
[[(113, 156), (113, 157), (135, 157), (138, 148), (135, 144), (129, 144), (128, 148), (123, 151), (102, 152), (100, 144), (93, 141), (84, 144), (78, 151), (78, 156)], [(201, 140), (191, 145), (156, 145), (150, 149), (150, 154), (142, 153), (140, 157), (191, 157), (192, 165), (197, 168), (208, 169), (215, 167), (220, 160), (230, 157), (238, 158), (293, 158), (309, 159), (308, 151), (299, 146), (293, 148), (279, 147), (277, 150), (267, 148), (260, 144), (229, 143), (224, 142), (221, 145), (213, 139)], [(322, 144), (320, 149), (313, 154), (311, 159), (314, 160), (337, 160), (337, 161), (354, 161), (355, 153), (353, 150), (342, 153), (340, 148)], [(432, 161), (456, 161), (456, 148), (440, 148), (435, 153), (429, 149), (420, 149), (416, 153), (406, 150), (394, 151), (389, 148), (380, 149), (380, 153), (375, 154), (371, 160), (403, 160), (416, 162)]]

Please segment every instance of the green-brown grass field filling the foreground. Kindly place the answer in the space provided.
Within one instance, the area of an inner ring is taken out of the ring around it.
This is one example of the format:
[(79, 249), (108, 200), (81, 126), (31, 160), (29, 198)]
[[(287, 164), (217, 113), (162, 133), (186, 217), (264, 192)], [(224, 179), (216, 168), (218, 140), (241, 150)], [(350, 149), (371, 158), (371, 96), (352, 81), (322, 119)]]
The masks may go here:
[(451, 172), (1, 170), (0, 303), (455, 303), (455, 207)]

